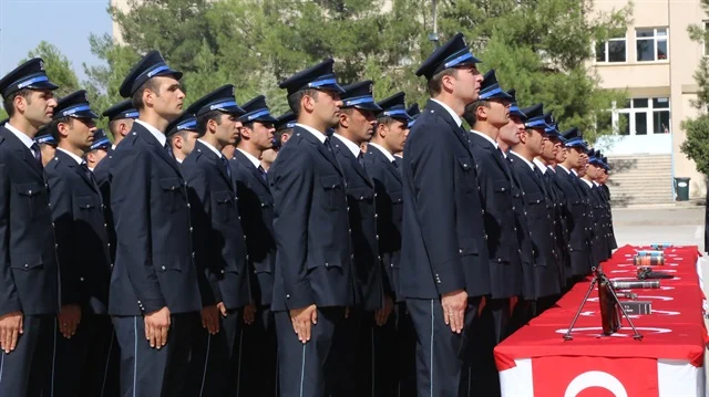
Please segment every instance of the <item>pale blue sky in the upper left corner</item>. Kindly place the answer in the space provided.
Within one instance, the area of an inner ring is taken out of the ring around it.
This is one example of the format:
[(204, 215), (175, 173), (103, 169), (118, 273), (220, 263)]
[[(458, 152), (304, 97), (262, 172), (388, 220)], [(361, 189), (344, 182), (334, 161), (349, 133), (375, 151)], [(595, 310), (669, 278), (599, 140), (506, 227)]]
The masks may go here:
[(42, 41), (54, 44), (85, 80), (82, 63), (101, 64), (89, 35), (112, 32), (110, 0), (0, 0), (0, 76)]

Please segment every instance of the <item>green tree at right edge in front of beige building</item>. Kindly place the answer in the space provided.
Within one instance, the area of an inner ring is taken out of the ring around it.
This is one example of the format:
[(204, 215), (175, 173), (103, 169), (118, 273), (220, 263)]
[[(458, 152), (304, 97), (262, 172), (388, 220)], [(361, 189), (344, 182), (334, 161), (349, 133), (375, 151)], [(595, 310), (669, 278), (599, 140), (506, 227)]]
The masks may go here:
[[(709, 0), (701, 0), (701, 7), (705, 12), (709, 12)], [(693, 24), (687, 31), (689, 38), (698, 43), (703, 44), (709, 40), (709, 32), (703, 27)], [(687, 140), (681, 144), (680, 150), (697, 164), (697, 170), (709, 175), (709, 116), (706, 112), (709, 105), (709, 61), (706, 56), (699, 62), (693, 76), (699, 91), (691, 104), (701, 115), (681, 123), (681, 128), (687, 133)]]

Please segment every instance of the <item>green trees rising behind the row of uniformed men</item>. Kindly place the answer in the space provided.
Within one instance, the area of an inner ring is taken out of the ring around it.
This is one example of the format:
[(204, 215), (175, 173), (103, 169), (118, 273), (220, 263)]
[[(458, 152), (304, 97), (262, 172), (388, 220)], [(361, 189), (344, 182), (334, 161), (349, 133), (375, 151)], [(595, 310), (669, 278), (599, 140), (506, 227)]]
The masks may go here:
[[(505, 90), (517, 90), (520, 105), (544, 102), (562, 127), (578, 126), (589, 140), (594, 130), (610, 133), (608, 123), (596, 130), (596, 119), (623, 93), (600, 90), (588, 61), (594, 41), (625, 29), (629, 8), (596, 14), (592, 0), (436, 3), (440, 42), (462, 31), (484, 61), (483, 72), (494, 67)], [(428, 39), (431, 0), (131, 0), (130, 6), (126, 12), (109, 9), (124, 44), (110, 35), (89, 38), (104, 64), (84, 64), (83, 85), (100, 112), (121, 100), (123, 77), (153, 49), (184, 72), (187, 104), (230, 83), (240, 103), (264, 94), (281, 114), (288, 108), (278, 82), (327, 56), (336, 59), (342, 84), (374, 81), (378, 100), (399, 91), (409, 103), (422, 105), (428, 97), (414, 72), (434, 49)]]

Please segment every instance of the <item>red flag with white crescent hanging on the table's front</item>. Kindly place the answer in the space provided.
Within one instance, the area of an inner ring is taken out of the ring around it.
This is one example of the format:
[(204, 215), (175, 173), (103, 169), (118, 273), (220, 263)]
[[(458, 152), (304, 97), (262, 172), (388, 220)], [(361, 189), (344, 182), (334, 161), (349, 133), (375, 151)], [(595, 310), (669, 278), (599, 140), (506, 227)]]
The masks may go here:
[(535, 396), (659, 397), (655, 358), (538, 357), (532, 374)]

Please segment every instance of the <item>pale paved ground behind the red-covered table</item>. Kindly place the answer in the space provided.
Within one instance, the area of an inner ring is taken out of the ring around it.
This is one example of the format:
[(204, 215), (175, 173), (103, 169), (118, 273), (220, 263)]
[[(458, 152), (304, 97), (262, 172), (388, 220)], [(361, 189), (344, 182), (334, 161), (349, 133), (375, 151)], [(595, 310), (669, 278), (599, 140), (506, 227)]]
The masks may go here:
[[(619, 208), (613, 211), (618, 245), (671, 242), (677, 245), (705, 247), (705, 208), (691, 203)], [(709, 296), (709, 258), (705, 254), (701, 272), (705, 294)], [(709, 321), (707, 322), (709, 325)], [(705, 355), (705, 370), (709, 378), (709, 355)]]

